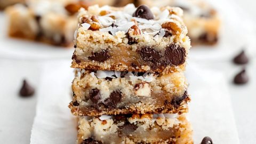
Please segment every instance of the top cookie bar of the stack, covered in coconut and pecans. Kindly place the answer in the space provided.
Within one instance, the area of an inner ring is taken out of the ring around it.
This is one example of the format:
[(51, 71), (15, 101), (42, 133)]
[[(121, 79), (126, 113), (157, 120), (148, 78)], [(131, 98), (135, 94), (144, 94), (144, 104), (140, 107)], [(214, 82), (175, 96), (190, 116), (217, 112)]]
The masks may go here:
[(183, 71), (190, 39), (178, 7), (90, 6), (78, 14), (73, 68)]

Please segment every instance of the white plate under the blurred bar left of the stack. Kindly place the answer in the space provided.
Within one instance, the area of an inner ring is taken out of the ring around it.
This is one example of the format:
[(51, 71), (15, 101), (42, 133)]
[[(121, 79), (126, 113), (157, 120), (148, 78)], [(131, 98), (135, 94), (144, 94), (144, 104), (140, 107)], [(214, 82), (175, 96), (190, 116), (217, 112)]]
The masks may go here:
[(7, 18), (0, 12), (0, 58), (5, 59), (71, 59), (73, 49), (70, 47), (51, 46), (33, 41), (7, 37)]

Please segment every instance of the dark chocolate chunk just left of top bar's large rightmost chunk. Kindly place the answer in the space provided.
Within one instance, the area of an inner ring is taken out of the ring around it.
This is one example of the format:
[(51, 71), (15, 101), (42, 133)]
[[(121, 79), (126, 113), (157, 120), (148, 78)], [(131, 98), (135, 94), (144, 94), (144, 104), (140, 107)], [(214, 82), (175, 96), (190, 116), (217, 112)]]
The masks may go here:
[(150, 47), (142, 47), (140, 50), (140, 55), (143, 60), (145, 61), (151, 61), (153, 63), (157, 63), (159, 59), (161, 59), (161, 55), (154, 49), (151, 49)]

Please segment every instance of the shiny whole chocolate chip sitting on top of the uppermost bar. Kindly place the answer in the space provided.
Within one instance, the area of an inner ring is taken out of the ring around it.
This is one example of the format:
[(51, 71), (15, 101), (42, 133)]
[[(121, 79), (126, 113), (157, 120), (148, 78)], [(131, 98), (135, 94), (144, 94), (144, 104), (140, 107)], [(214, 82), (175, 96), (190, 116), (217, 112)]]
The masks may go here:
[(137, 10), (132, 14), (132, 17), (138, 17), (142, 19), (151, 20), (154, 19), (153, 13), (150, 11), (148, 6), (141, 5), (137, 8)]

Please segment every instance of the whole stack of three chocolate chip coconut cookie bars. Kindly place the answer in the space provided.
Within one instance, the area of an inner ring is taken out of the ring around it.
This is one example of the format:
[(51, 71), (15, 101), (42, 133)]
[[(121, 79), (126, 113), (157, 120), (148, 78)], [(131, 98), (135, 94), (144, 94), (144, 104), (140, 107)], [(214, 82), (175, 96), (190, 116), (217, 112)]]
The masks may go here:
[(79, 11), (69, 105), (78, 144), (193, 143), (182, 13), (133, 4)]

